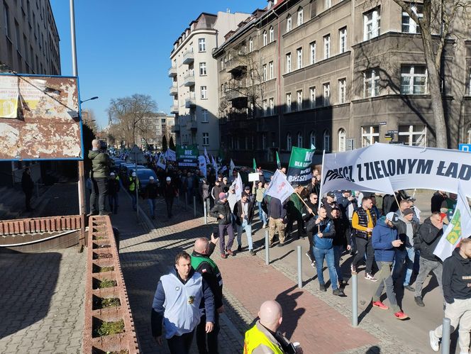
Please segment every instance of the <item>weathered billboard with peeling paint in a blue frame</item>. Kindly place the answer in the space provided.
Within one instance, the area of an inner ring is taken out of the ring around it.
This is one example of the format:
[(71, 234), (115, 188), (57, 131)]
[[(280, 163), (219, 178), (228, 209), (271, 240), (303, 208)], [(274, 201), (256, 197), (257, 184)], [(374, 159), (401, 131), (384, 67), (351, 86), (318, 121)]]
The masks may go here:
[(76, 77), (0, 74), (0, 160), (81, 160)]

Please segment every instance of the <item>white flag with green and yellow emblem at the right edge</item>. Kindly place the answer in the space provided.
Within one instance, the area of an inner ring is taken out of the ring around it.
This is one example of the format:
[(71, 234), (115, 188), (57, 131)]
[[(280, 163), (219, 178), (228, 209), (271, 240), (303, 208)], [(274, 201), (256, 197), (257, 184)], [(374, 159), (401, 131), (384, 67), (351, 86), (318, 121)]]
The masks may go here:
[(433, 251), (441, 260), (445, 260), (453, 253), (453, 250), (460, 243), (462, 235), (471, 234), (471, 211), (467, 202), (466, 193), (462, 190), (461, 182), (458, 182), (458, 201), (450, 223), (443, 236)]

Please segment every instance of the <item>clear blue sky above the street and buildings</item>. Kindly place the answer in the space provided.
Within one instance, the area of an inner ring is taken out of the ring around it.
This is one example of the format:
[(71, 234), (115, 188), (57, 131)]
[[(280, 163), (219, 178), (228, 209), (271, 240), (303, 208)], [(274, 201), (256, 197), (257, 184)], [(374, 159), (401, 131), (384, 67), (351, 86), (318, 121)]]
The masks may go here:
[[(50, 0), (60, 35), (62, 75), (72, 75), (69, 1)], [(83, 109), (92, 109), (106, 126), (113, 98), (149, 94), (169, 113), (167, 76), (174, 41), (201, 12), (252, 13), (265, 0), (76, 0), (75, 28)]]

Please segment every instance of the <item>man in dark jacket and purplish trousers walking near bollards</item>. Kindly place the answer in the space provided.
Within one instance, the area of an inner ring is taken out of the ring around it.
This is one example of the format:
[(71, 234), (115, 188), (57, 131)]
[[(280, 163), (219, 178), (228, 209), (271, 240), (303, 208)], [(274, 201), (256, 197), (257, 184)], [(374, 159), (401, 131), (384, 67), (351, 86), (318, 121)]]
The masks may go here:
[[(218, 228), (219, 228), (219, 250), (221, 251), (221, 258), (226, 259), (227, 255), (234, 255), (233, 251), (231, 250), (232, 244), (234, 242), (234, 229), (232, 226), (232, 213), (229, 203), (227, 201), (226, 193), (221, 192), (218, 196), (218, 201), (213, 206), (211, 211), (209, 211), (209, 215), (216, 218), (218, 220)], [(224, 233), (227, 233), (229, 236), (228, 243), (226, 243), (226, 239)]]

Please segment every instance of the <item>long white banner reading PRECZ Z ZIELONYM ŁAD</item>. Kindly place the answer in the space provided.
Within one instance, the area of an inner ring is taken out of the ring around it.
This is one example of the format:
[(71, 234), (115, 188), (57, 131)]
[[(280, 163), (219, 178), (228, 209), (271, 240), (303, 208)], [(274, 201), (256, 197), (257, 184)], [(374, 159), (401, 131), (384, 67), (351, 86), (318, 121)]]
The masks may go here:
[(352, 189), (392, 194), (399, 189), (456, 193), (458, 180), (471, 197), (471, 154), (458, 150), (380, 144), (326, 154), (323, 192)]

